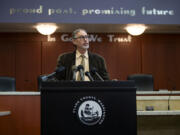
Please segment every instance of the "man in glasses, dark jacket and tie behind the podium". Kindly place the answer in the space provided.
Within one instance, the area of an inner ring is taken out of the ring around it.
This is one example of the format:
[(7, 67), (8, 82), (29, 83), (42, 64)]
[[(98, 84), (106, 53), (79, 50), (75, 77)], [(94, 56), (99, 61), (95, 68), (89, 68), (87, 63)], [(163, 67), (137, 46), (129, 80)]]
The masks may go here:
[(73, 31), (72, 43), (75, 51), (58, 57), (55, 77), (58, 80), (74, 81), (109, 80), (104, 58), (88, 51), (89, 37), (86, 30)]

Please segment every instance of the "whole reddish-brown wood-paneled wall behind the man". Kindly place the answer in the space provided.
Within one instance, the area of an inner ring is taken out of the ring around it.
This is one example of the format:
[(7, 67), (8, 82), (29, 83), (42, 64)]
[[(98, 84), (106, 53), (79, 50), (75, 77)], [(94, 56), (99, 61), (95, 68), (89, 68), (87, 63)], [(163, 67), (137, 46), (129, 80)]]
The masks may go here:
[[(37, 77), (54, 71), (57, 57), (73, 51), (70, 42), (56, 42), (35, 33), (0, 33), (0, 76), (14, 76), (18, 91), (36, 91)], [(111, 79), (126, 80), (129, 74), (153, 74), (155, 89), (180, 90), (180, 34), (144, 34), (131, 42), (91, 42), (90, 51), (106, 60)], [(113, 34), (127, 37), (127, 34)]]

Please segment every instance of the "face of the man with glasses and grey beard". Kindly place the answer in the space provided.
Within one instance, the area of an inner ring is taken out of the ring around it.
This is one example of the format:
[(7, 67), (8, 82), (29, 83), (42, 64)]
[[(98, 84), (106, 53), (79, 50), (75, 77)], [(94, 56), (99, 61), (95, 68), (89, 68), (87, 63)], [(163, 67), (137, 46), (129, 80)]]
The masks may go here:
[(77, 46), (78, 50), (87, 50), (89, 48), (89, 39), (85, 31), (79, 31), (75, 39), (73, 39), (73, 44)]

